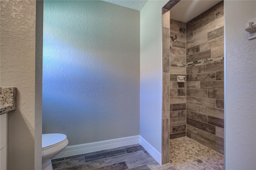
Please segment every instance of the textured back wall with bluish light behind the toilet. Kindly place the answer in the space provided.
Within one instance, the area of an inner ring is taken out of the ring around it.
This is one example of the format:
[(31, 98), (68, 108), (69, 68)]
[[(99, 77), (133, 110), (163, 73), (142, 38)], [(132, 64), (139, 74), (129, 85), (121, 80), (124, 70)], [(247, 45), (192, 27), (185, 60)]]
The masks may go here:
[(68, 146), (140, 134), (139, 11), (44, 1), (43, 53), (43, 133)]

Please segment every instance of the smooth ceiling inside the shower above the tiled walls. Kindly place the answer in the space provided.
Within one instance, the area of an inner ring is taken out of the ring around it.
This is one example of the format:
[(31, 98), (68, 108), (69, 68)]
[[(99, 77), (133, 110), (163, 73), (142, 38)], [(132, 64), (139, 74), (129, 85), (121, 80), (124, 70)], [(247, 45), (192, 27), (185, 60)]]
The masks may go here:
[(181, 0), (170, 10), (170, 18), (188, 22), (222, 0)]

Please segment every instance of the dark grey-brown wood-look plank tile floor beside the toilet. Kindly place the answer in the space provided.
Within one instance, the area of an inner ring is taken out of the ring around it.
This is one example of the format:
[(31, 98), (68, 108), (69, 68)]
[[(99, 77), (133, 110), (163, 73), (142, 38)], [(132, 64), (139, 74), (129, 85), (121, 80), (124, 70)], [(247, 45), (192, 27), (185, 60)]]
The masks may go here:
[(54, 170), (176, 170), (158, 164), (140, 145), (80, 154), (52, 160)]

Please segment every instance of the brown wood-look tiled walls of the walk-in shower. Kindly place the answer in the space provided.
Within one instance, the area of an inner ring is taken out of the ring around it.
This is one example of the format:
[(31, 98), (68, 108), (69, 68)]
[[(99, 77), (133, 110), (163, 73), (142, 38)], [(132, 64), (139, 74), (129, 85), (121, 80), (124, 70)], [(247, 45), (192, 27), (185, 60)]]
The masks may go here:
[(224, 154), (224, 2), (216, 3), (189, 21), (162, 9), (163, 163), (169, 140), (184, 136)]

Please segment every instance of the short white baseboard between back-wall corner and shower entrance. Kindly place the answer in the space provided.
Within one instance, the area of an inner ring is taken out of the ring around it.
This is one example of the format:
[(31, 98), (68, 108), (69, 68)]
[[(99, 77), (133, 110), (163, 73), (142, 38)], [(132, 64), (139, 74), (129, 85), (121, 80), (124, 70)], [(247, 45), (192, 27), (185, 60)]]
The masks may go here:
[(140, 145), (158, 162), (162, 164), (162, 154), (140, 136)]

